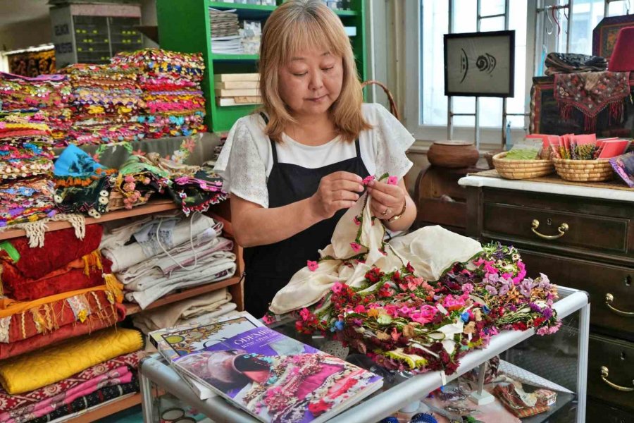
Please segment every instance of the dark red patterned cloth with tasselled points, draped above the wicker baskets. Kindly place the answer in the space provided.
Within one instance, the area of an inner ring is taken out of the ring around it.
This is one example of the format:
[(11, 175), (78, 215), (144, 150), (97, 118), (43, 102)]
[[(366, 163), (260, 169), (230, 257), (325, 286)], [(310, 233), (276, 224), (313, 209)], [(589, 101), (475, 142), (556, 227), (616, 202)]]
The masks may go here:
[(585, 130), (595, 132), (597, 114), (610, 107), (614, 122), (623, 120), (623, 99), (630, 95), (629, 72), (558, 73), (554, 76), (554, 99), (562, 119), (573, 109), (585, 117)]

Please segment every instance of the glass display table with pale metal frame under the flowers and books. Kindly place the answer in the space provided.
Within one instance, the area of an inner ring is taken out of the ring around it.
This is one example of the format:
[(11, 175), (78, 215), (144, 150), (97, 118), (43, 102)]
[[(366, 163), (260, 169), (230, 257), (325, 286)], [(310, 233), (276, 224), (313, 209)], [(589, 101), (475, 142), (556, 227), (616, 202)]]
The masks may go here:
[[(588, 367), (588, 328), (590, 304), (584, 291), (559, 287), (559, 300), (554, 303), (563, 324), (552, 335), (534, 336), (535, 331), (502, 331), (491, 338), (490, 344), (483, 350), (473, 350), (461, 359), (456, 373), (427, 372), (411, 376), (407, 374), (385, 374), (384, 385), (380, 391), (356, 403), (329, 422), (368, 423), (378, 422), (393, 415), (397, 410), (422, 400), (440, 386), (480, 367), (492, 357), (499, 356), (507, 367), (519, 369), (537, 379), (552, 381), (553, 386), (565, 388), (560, 392), (557, 404), (547, 413), (522, 419), (522, 422), (585, 422), (586, 373)], [(320, 348), (324, 343), (322, 336), (299, 336), (294, 331), (293, 321), (282, 321), (271, 326), (275, 331), (294, 336), (299, 341)], [(349, 355), (347, 360), (357, 365), (359, 354)], [(376, 371), (375, 367), (370, 368)], [(530, 377), (530, 376), (529, 376)], [(219, 396), (200, 400), (194, 391), (183, 381), (161, 357), (147, 357), (139, 366), (139, 381), (143, 396), (144, 422), (160, 422), (160, 412), (166, 406), (161, 405), (161, 395), (169, 393), (185, 405), (193, 407), (213, 422), (259, 422), (246, 412), (230, 405)], [(480, 381), (480, 386), (482, 381)], [(173, 401), (170, 401), (173, 405)]]

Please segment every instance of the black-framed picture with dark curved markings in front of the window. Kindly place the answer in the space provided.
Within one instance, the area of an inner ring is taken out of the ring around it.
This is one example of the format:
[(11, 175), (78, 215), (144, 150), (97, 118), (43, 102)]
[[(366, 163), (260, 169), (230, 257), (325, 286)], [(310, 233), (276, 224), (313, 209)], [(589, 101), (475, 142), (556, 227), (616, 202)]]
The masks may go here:
[(445, 95), (513, 97), (515, 31), (445, 34)]

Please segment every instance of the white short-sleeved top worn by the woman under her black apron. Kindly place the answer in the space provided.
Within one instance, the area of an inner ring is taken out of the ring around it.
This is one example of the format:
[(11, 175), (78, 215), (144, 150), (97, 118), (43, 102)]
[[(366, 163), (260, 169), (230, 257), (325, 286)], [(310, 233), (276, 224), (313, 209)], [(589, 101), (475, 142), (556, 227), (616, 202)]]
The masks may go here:
[[(361, 111), (372, 125), (359, 133), (361, 159), (368, 173), (402, 178), (412, 165), (405, 152), (414, 137), (380, 104), (363, 104)], [(266, 182), (273, 168), (273, 152), (264, 127), (259, 114), (238, 119), (220, 152), (215, 171), (223, 177), (227, 192), (268, 207)], [(300, 144), (286, 134), (282, 134), (282, 141), (275, 144), (278, 163), (321, 168), (356, 156), (354, 142), (340, 137), (314, 147)]]

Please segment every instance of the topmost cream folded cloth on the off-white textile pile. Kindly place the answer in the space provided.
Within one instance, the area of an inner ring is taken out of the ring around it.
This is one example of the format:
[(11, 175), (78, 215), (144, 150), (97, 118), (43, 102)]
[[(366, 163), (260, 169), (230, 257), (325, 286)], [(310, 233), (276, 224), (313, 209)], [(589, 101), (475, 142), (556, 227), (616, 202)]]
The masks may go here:
[[(158, 219), (159, 222), (161, 220), (163, 220), (163, 218)], [(202, 214), (194, 215), (189, 219), (182, 219), (176, 223), (176, 226), (173, 228), (171, 236), (172, 242), (170, 245), (163, 245), (163, 247), (168, 250), (175, 245), (185, 243), (185, 241), (189, 241), (192, 237), (199, 235), (206, 229), (213, 228), (215, 225), (216, 222), (214, 222), (211, 217), (204, 216)], [(153, 255), (162, 251), (159, 243), (156, 242), (156, 236), (151, 238), (151, 243), (154, 245), (152, 247), (154, 250)], [(137, 263), (151, 258), (152, 256), (147, 255), (146, 251), (147, 248), (144, 251), (144, 248), (139, 243), (133, 243), (119, 247), (116, 250), (101, 250), (101, 254), (111, 260), (112, 270), (117, 272), (123, 269), (128, 269), (130, 266), (134, 266)]]

